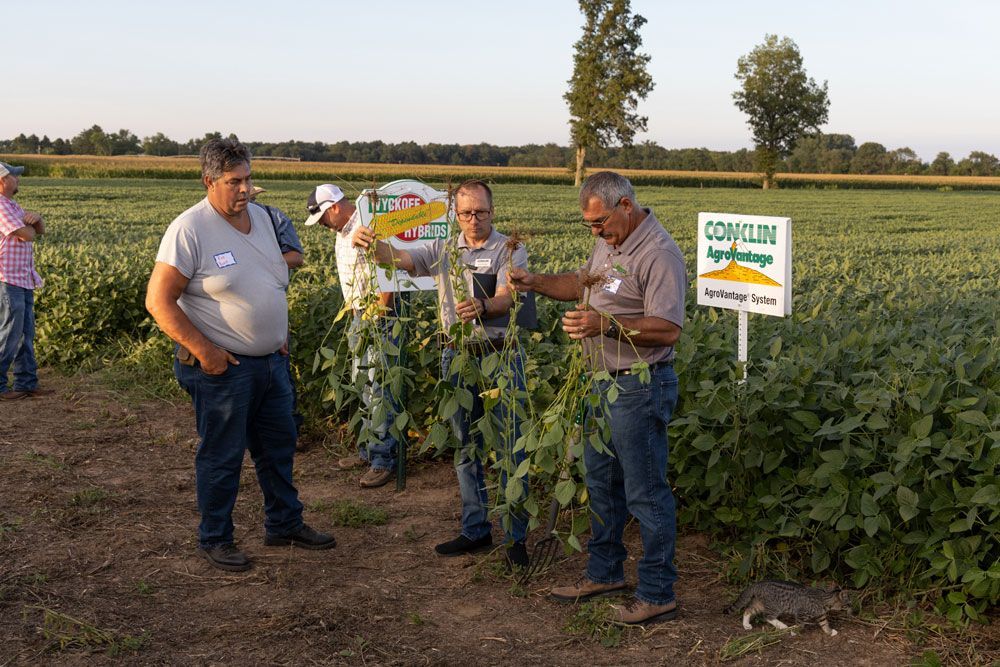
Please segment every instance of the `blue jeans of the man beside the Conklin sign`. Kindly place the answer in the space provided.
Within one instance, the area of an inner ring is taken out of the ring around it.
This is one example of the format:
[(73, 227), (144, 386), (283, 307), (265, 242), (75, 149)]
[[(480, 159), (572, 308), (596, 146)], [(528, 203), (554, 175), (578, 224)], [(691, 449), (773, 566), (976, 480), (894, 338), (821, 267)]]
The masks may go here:
[[(677, 375), (673, 366), (662, 366), (651, 376), (642, 384), (636, 375), (619, 375), (618, 399), (597, 408), (609, 422), (611, 441), (605, 443), (610, 454), (590, 445), (584, 450), (591, 511), (587, 577), (602, 584), (624, 581), (622, 533), (631, 513), (643, 551), (635, 596), (664, 605), (673, 601), (677, 581), (677, 509), (667, 482), (667, 424), (677, 405)], [(594, 390), (607, 396), (613, 382), (597, 382)]]

